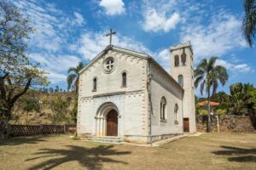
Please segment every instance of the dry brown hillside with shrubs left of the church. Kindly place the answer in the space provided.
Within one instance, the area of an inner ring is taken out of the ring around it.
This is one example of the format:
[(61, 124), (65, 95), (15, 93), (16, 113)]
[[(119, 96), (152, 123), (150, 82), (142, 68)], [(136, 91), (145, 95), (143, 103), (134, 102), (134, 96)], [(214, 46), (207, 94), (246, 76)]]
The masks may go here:
[[(74, 109), (75, 99), (75, 94), (71, 92), (44, 94), (29, 91), (15, 103), (11, 123), (30, 125), (74, 123), (71, 112)], [(36, 111), (30, 109), (32, 103), (38, 105), (39, 109)]]

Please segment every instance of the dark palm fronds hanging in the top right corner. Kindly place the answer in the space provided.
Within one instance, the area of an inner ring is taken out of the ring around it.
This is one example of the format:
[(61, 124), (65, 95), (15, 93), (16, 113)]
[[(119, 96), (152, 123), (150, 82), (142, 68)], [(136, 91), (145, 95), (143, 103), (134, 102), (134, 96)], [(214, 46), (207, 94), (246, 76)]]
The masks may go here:
[(243, 35), (247, 43), (252, 47), (256, 31), (256, 1), (244, 0), (243, 8), (245, 11), (245, 17), (242, 22)]

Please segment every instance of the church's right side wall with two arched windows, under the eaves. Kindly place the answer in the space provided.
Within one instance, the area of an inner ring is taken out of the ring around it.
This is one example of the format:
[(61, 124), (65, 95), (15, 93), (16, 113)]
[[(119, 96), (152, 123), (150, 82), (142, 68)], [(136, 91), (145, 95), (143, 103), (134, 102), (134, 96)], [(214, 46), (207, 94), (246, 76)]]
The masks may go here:
[[(152, 63), (152, 135), (183, 133), (183, 88), (160, 65)], [(166, 99), (166, 120), (160, 120), (160, 99)], [(174, 118), (174, 106), (178, 105), (177, 122)]]

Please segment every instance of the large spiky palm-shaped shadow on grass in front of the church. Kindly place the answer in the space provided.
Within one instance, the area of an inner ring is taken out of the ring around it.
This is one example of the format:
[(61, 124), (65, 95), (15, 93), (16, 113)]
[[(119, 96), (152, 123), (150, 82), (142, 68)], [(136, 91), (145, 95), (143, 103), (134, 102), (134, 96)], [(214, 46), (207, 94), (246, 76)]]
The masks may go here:
[[(67, 145), (67, 150), (55, 150), (55, 149), (42, 149), (40, 152), (36, 153), (37, 157), (28, 159), (26, 161), (33, 161), (36, 159), (49, 157), (49, 160), (43, 161), (34, 167), (30, 167), (30, 170), (34, 169), (52, 169), (65, 163), (67, 161), (79, 161), (79, 164), (83, 167), (87, 167), (91, 170), (102, 169), (103, 162), (112, 163), (123, 163), (127, 164), (125, 161), (117, 161), (111, 159), (108, 156), (121, 156), (131, 154), (130, 151), (117, 151), (112, 150), (113, 145), (99, 145), (95, 148), (85, 148), (75, 145)], [(53, 158), (53, 156), (61, 156), (58, 158)]]

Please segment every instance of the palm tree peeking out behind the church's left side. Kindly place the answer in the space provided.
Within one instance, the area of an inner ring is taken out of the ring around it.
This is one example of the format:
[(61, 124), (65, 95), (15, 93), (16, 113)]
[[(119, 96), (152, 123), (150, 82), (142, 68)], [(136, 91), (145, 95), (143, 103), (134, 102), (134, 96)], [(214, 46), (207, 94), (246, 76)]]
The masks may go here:
[(69, 90), (74, 84), (75, 92), (78, 94), (79, 92), (79, 71), (84, 68), (83, 62), (79, 62), (77, 67), (70, 67), (68, 69), (68, 73), (71, 73), (67, 76), (67, 90)]

